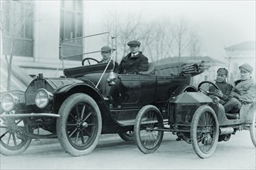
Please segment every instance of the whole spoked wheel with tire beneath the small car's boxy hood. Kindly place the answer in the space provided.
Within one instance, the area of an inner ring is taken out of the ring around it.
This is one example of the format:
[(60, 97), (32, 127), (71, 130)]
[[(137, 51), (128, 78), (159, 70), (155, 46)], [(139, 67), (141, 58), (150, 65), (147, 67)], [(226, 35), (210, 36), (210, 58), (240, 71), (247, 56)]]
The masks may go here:
[(200, 158), (213, 155), (219, 138), (219, 124), (211, 107), (201, 106), (195, 111), (190, 131), (195, 154)]

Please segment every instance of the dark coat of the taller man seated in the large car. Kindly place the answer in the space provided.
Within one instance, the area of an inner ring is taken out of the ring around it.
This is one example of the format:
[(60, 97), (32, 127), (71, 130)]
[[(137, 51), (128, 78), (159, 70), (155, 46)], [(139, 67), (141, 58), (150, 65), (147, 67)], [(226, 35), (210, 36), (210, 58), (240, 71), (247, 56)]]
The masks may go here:
[(131, 53), (123, 57), (118, 67), (118, 73), (134, 74), (140, 71), (148, 70), (148, 59), (139, 52), (136, 56), (131, 57)]

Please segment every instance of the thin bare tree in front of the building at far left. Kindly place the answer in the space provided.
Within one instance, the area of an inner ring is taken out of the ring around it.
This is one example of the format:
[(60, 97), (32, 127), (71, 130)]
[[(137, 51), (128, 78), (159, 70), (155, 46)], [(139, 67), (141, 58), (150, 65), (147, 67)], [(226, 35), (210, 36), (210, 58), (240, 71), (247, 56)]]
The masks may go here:
[[(12, 58), (16, 38), (24, 32), (24, 26), (34, 22), (33, 1), (2, 2), (0, 29), (2, 30), (3, 49), (8, 66), (7, 88), (11, 88)], [(9, 39), (9, 41), (8, 41)]]

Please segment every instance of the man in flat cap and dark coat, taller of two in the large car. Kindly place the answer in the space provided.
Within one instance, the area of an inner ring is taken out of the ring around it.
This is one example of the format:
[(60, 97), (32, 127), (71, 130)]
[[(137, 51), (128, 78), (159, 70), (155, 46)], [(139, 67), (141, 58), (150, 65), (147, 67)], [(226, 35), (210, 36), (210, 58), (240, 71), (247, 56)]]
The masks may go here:
[(118, 73), (137, 74), (140, 71), (147, 71), (148, 59), (139, 51), (140, 42), (133, 40), (127, 43), (130, 46), (130, 53), (121, 60)]

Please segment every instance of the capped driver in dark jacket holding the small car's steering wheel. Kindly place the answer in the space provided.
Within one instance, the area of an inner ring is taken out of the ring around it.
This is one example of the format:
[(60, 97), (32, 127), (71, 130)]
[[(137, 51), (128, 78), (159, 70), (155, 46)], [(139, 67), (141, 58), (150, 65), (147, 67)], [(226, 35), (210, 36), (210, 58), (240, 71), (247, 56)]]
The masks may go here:
[(227, 100), (230, 99), (230, 93), (233, 89), (233, 86), (230, 83), (227, 83), (227, 69), (220, 68), (217, 70), (216, 76), (216, 86), (220, 90), (217, 90), (215, 87), (209, 87), (209, 92), (213, 93), (213, 96), (220, 97), (220, 104), (225, 104)]

